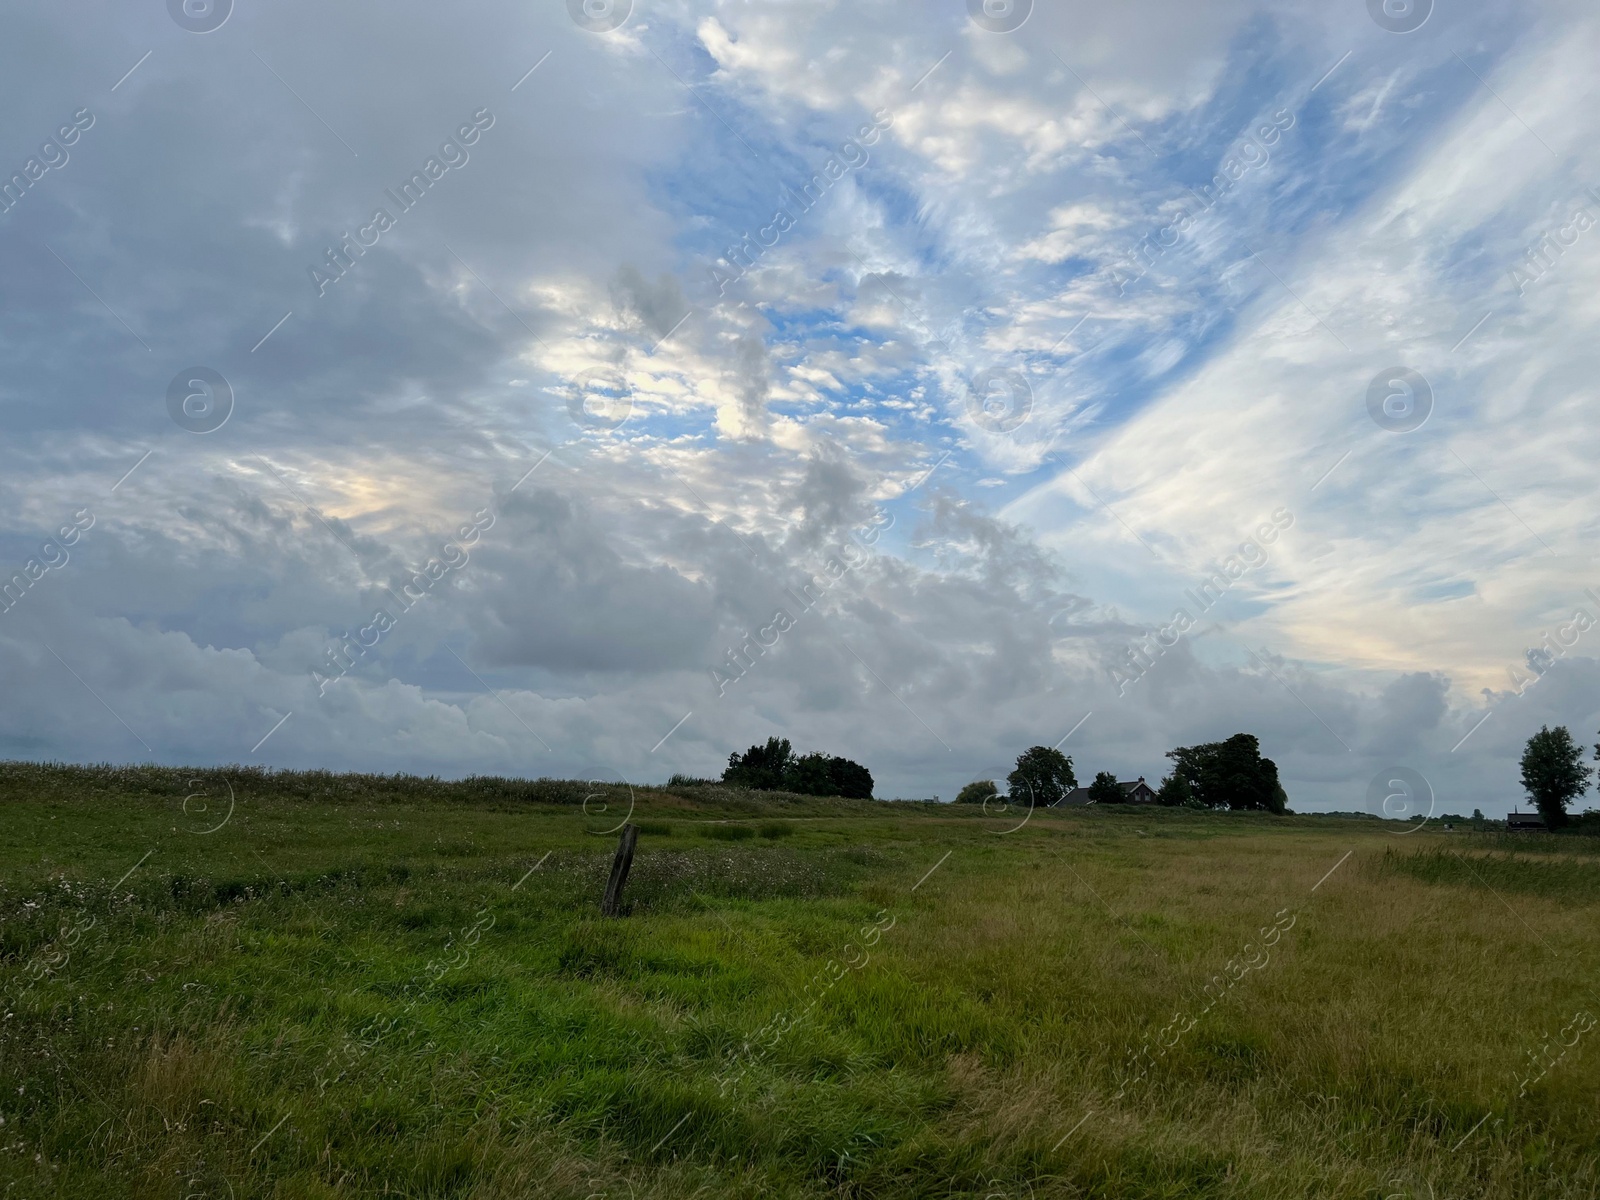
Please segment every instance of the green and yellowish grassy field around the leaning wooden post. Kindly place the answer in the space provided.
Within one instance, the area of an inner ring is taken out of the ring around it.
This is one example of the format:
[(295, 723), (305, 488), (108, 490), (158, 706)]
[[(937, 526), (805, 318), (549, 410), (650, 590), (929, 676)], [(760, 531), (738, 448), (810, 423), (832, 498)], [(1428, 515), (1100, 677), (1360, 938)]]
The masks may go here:
[(18, 763), (0, 813), (0, 1197), (1600, 1195), (1600, 838)]

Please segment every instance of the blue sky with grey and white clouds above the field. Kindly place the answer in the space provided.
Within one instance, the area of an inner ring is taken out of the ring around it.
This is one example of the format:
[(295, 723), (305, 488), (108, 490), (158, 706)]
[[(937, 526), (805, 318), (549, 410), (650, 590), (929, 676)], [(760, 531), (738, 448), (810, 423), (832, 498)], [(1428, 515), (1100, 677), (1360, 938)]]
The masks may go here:
[(1403, 818), (1600, 730), (1592, 5), (0, 21), (0, 757)]

